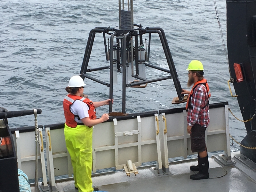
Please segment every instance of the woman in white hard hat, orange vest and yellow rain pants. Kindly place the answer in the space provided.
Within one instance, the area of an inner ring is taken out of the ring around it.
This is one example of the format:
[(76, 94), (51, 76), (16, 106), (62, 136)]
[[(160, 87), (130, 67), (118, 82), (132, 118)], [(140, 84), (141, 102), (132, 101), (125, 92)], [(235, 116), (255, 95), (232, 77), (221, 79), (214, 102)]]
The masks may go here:
[[(109, 105), (110, 99), (92, 102), (82, 97), (84, 80), (80, 76), (70, 78), (64, 101), (66, 118), (64, 134), (66, 146), (71, 156), (75, 188), (79, 192), (92, 192), (92, 126), (108, 120), (108, 114), (96, 119), (95, 108)], [(113, 103), (113, 100), (112, 100)]]

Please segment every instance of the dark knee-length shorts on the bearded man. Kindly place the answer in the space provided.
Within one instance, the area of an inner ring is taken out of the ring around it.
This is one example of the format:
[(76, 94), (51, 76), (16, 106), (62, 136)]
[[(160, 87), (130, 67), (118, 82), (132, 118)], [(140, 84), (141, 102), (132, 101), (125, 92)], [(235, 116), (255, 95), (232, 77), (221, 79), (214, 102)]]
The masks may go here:
[(195, 124), (191, 128), (191, 151), (192, 153), (195, 152), (202, 152), (206, 150), (206, 144), (204, 139), (204, 132), (206, 128), (204, 126), (201, 126), (199, 124)]

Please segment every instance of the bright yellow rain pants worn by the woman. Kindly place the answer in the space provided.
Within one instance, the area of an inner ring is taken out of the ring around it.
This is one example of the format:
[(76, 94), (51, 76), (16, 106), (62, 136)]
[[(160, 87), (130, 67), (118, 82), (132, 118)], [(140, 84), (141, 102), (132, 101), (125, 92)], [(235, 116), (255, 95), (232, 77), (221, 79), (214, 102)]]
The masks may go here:
[(71, 128), (65, 124), (64, 134), (75, 186), (79, 192), (92, 192), (92, 127), (77, 125)]

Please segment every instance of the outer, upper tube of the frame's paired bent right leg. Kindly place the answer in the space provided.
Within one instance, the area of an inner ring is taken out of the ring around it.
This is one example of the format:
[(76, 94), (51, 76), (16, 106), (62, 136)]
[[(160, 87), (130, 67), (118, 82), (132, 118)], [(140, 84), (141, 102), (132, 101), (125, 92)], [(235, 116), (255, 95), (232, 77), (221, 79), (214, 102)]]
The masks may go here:
[[(171, 54), (171, 51), (170, 51), (170, 48), (169, 48), (169, 45), (168, 45), (168, 42), (167, 42), (167, 39), (166, 39), (166, 36), (165, 36), (165, 33), (164, 33), (164, 29), (162, 29), (160, 27), (158, 27), (158, 28), (148, 28), (148, 29), (156, 29), (156, 30), (161, 31), (161, 33), (162, 33), (162, 36), (163, 36), (163, 39), (164, 39), (164, 43), (165, 43), (165, 46), (166, 46), (166, 49), (167, 49), (167, 53), (169, 55), (170, 62), (171, 62), (171, 65), (172, 65), (172, 69), (173, 69), (173, 72), (174, 72), (174, 77), (175, 78), (173, 78), (173, 82), (176, 82), (176, 84), (174, 83), (174, 85), (176, 87), (176, 91), (177, 91), (179, 100), (182, 100), (181, 97), (183, 97), (184, 95), (181, 94), (182, 88), (181, 88), (181, 85), (180, 85), (180, 80), (178, 78), (178, 74), (177, 74), (177, 71), (176, 71), (173, 59), (172, 59), (172, 54)], [(174, 81), (174, 79), (175, 79), (175, 81)]]

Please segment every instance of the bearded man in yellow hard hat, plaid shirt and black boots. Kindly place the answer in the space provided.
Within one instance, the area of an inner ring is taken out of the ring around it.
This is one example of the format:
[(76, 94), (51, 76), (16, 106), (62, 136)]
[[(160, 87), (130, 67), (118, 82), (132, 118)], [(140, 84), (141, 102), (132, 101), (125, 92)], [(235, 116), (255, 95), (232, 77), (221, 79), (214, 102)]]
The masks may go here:
[(191, 91), (182, 89), (182, 94), (188, 94), (186, 109), (187, 131), (191, 139), (191, 151), (197, 152), (198, 165), (190, 166), (190, 170), (199, 171), (190, 175), (192, 180), (209, 178), (209, 161), (204, 139), (204, 132), (209, 125), (209, 98), (211, 97), (209, 85), (204, 78), (203, 64), (198, 60), (192, 60), (188, 65), (188, 87), (193, 84)]

